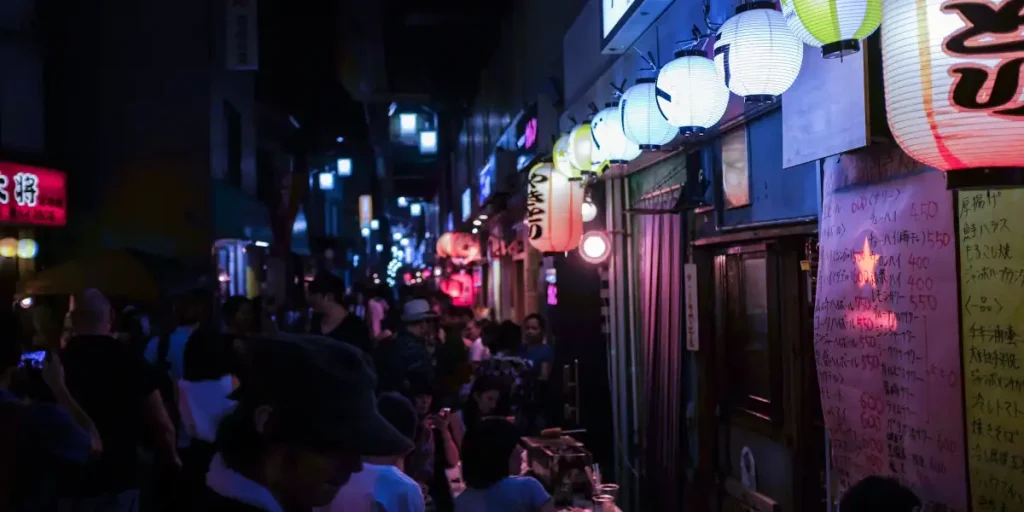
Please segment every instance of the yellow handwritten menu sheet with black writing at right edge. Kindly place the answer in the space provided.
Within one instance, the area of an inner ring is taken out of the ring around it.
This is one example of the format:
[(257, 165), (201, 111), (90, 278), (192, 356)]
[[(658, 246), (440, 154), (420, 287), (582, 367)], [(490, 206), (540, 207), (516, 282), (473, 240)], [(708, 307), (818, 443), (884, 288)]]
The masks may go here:
[(957, 200), (972, 501), (1024, 510), (1024, 189)]

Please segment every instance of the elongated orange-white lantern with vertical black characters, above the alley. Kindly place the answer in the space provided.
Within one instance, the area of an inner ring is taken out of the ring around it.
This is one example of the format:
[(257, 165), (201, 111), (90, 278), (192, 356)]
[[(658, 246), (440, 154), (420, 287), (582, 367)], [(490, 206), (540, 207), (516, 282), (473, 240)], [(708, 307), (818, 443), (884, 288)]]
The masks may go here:
[(528, 240), (542, 253), (571, 251), (583, 234), (583, 182), (542, 163), (529, 171), (526, 195)]

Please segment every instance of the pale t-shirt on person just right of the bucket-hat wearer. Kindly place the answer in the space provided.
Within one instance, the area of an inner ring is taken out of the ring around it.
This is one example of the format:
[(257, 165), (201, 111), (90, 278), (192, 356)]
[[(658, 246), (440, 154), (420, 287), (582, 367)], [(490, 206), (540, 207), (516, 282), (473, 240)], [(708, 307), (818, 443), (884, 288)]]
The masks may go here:
[(423, 512), (420, 484), (394, 466), (362, 463), (331, 505), (318, 512)]

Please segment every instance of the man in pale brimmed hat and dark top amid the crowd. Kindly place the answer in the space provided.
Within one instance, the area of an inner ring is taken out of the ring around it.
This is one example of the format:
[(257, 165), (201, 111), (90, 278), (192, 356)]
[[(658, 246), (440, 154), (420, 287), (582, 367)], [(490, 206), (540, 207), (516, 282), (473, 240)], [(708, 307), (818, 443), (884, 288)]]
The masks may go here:
[(412, 299), (401, 309), (402, 330), (382, 340), (374, 352), (380, 391), (409, 391), (411, 383), (433, 384), (434, 365), (427, 343), (437, 333), (437, 313), (427, 299)]

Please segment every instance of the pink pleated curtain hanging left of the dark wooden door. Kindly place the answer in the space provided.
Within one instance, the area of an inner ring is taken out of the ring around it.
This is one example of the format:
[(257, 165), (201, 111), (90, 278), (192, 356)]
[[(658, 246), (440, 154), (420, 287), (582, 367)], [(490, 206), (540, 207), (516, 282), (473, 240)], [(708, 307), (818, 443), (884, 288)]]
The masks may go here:
[(683, 259), (680, 215), (639, 219), (643, 404), (641, 442), (645, 510), (681, 510), (683, 404)]

